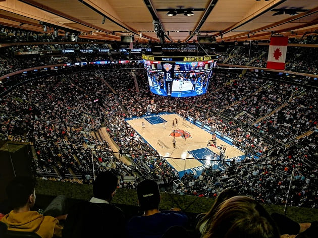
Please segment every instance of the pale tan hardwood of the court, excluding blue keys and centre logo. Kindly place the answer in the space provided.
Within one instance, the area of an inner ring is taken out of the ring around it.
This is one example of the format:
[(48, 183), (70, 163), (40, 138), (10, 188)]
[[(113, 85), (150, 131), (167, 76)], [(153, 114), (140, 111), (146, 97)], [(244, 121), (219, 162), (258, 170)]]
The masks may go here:
[[(154, 115), (155, 116), (155, 115)], [(186, 159), (194, 158), (188, 151), (202, 149), (207, 147), (207, 141), (211, 140), (211, 134), (204, 131), (198, 126), (190, 124), (188, 121), (177, 114), (160, 114), (158, 115), (167, 121), (164, 127), (164, 123), (151, 124), (147, 118), (136, 118), (134, 120), (127, 121), (136, 132), (143, 137), (155, 150), (158, 151), (164, 157), (175, 157), (182, 159), (167, 159), (167, 161), (179, 172), (182, 170), (191, 169), (194, 167), (201, 166), (202, 163), (197, 159)], [(178, 126), (172, 128), (173, 120), (177, 118)], [(151, 118), (150, 118), (151, 120)], [(144, 123), (144, 129), (142, 128), (142, 122)], [(171, 135), (173, 130), (183, 130), (188, 132), (191, 136), (186, 140), (176, 133), (176, 148), (173, 147), (173, 136)], [(226, 145), (227, 151), (226, 156), (234, 158), (244, 155), (239, 149), (229, 145), (225, 141), (217, 138), (217, 145)], [(213, 151), (217, 155), (220, 154), (220, 150), (213, 146), (208, 147), (209, 150)], [(213, 158), (211, 158), (213, 159)]]

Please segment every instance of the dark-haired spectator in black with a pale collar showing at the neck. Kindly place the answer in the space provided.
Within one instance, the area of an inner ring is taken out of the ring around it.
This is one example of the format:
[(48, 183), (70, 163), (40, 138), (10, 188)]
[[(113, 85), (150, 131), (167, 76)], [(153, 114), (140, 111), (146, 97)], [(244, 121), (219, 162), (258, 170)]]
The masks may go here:
[(93, 182), (93, 197), (70, 209), (63, 237), (125, 236), (125, 215), (110, 204), (118, 185), (118, 177), (111, 171), (97, 175)]

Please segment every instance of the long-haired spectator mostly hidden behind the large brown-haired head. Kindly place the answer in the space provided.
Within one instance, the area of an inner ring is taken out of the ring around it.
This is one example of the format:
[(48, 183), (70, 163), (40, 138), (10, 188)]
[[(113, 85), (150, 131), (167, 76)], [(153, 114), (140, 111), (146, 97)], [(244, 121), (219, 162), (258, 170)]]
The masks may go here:
[(201, 213), (197, 216), (198, 223), (195, 228), (201, 233), (201, 236), (203, 236), (206, 233), (208, 227), (210, 227), (213, 216), (218, 211), (220, 204), (225, 200), (237, 195), (237, 192), (233, 189), (223, 190), (216, 198), (216, 201), (214, 202), (211, 209), (207, 213)]

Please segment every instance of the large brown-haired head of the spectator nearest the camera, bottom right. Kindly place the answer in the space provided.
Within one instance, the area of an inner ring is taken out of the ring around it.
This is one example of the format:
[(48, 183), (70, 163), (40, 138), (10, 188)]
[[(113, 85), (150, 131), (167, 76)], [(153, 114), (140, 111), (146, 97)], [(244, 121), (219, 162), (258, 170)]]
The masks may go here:
[(268, 212), (254, 199), (235, 196), (224, 201), (204, 238), (280, 238)]

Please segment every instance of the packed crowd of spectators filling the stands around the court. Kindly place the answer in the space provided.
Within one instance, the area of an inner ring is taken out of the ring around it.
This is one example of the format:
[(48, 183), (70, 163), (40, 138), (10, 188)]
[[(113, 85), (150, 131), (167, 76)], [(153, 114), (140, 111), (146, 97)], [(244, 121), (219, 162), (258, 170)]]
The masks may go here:
[[(232, 49), (229, 54), (234, 64), (239, 55), (246, 59), (247, 50)], [(260, 54), (262, 48), (255, 46), (249, 57)], [(245, 59), (241, 63), (246, 65)], [(1, 60), (6, 72), (22, 65), (9, 57)], [(284, 204), (294, 168), (291, 203), (317, 207), (316, 89), (272, 81), (267, 73), (215, 70), (204, 95), (157, 97), (148, 91), (147, 73), (141, 67), (111, 64), (25, 82), (0, 98), (1, 130), (12, 140), (34, 143), (34, 172), (40, 177), (54, 174), (61, 181), (73, 177), (90, 183), (93, 157), (96, 171), (110, 169), (121, 177), (121, 186), (135, 188), (134, 182), (123, 179), (132, 175), (131, 167), (112, 153), (100, 132), (105, 127), (139, 174), (170, 191), (178, 173), (125, 122), (126, 117), (145, 114), (153, 100), (157, 112), (191, 116), (233, 138), (247, 156), (244, 162), (253, 163), (233, 163), (224, 171), (207, 168), (200, 176), (185, 174), (180, 194), (216, 197), (226, 188), (237, 188), (261, 203)], [(302, 137), (307, 131), (311, 135)]]

